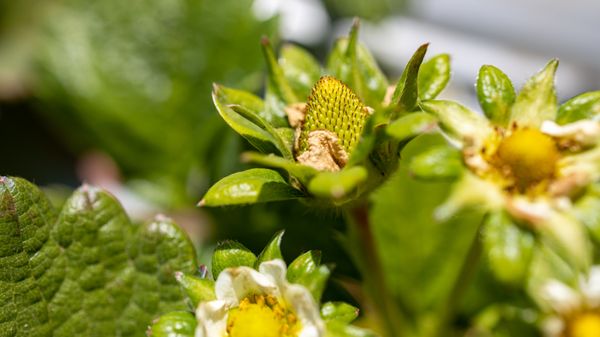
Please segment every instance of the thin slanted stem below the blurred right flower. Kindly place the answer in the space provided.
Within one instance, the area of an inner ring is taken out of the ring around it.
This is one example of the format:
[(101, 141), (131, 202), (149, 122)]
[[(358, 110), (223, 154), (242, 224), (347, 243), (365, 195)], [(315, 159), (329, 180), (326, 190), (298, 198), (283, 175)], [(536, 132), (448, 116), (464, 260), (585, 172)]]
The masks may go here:
[(481, 240), (480, 240), (480, 232), (485, 223), (487, 216), (483, 216), (481, 222), (477, 226), (477, 230), (475, 232), (475, 236), (471, 241), (471, 245), (469, 246), (469, 251), (465, 256), (463, 264), (460, 268), (460, 272), (454, 281), (450, 294), (446, 299), (446, 303), (442, 307), (440, 311), (440, 315), (438, 317), (438, 324), (434, 329), (434, 334), (431, 336), (444, 336), (447, 335), (447, 331), (449, 330), (448, 325), (451, 324), (452, 319), (454, 318), (456, 311), (461, 303), (461, 299), (463, 298), (465, 292), (468, 290), (471, 285), (471, 281), (475, 271), (477, 270), (477, 266), (479, 260), (481, 258)]

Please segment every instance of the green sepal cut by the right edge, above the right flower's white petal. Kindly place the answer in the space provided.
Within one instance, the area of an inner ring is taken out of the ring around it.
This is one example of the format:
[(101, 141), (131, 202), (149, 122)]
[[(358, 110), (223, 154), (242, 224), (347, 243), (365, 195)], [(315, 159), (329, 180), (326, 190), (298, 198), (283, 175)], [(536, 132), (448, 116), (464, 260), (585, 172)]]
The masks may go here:
[(600, 116), (600, 91), (592, 91), (575, 96), (561, 105), (556, 122), (562, 125), (598, 116)]

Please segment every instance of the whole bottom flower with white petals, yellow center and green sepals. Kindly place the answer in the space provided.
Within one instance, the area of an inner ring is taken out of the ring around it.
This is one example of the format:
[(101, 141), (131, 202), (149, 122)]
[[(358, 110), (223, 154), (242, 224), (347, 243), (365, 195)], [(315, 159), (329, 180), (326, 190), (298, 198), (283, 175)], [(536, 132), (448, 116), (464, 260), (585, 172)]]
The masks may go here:
[(325, 337), (374, 336), (350, 325), (358, 309), (343, 302), (320, 305), (330, 275), (320, 253), (309, 251), (286, 267), (278, 233), (257, 257), (243, 245), (222, 242), (212, 274), (176, 273), (195, 313), (172, 312), (156, 319), (153, 337)]

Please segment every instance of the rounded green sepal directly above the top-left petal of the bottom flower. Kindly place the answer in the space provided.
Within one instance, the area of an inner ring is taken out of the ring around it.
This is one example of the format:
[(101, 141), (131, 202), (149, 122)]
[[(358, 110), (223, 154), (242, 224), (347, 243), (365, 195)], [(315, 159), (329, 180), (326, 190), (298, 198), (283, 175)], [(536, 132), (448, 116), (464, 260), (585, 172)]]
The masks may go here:
[(226, 240), (219, 242), (212, 257), (212, 274), (216, 280), (226, 268), (254, 267), (256, 255), (237, 241)]

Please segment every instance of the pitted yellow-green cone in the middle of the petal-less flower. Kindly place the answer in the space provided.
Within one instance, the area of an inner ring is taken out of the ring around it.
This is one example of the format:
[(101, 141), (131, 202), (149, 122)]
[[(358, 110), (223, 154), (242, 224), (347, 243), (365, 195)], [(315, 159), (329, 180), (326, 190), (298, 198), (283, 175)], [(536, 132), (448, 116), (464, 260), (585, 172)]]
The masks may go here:
[(334, 77), (321, 77), (308, 97), (299, 153), (308, 150), (309, 134), (316, 130), (333, 132), (344, 150), (351, 153), (368, 116), (366, 106), (348, 86)]

